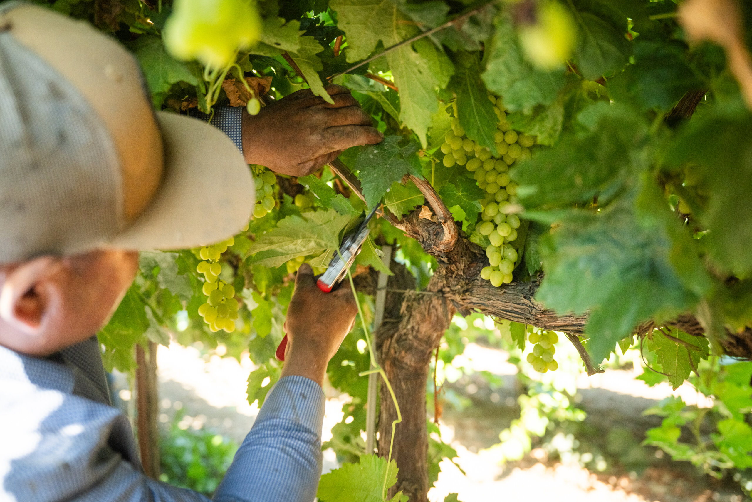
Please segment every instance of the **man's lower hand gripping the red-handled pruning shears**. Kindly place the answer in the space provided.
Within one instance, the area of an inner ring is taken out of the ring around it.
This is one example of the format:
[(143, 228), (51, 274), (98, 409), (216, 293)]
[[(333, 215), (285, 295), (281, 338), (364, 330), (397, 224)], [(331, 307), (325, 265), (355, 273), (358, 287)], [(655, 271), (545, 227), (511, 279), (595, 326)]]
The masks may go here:
[(350, 288), (323, 293), (308, 263), (298, 269), (287, 307), (287, 351), (282, 376), (301, 375), (323, 384), (326, 365), (355, 324), (358, 308)]

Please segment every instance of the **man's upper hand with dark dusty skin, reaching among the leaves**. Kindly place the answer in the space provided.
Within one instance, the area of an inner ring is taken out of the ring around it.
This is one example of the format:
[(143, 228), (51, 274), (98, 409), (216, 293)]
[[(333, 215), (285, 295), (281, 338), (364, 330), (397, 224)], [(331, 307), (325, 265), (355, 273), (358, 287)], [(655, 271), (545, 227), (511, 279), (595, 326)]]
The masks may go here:
[(261, 108), (255, 117), (244, 113), (246, 162), (284, 175), (305, 176), (347, 148), (384, 138), (350, 90), (330, 85), (326, 92), (333, 105), (304, 89)]

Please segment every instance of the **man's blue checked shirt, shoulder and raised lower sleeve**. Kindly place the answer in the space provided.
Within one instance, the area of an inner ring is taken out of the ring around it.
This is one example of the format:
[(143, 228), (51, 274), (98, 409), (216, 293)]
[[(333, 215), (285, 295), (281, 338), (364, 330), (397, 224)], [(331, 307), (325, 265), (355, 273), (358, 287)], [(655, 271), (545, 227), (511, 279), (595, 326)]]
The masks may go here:
[[(144, 475), (128, 419), (102, 394), (98, 350), (93, 337), (47, 359), (0, 346), (0, 500), (208, 501)], [(323, 414), (316, 382), (280, 379), (214, 500), (314, 500)]]

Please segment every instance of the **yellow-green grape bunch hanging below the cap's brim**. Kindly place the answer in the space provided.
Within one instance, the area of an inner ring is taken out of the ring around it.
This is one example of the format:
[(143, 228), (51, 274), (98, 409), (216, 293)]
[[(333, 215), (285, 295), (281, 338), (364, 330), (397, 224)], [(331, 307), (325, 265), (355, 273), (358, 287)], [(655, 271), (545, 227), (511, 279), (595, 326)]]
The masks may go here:
[[(247, 230), (247, 227), (244, 230)], [(233, 244), (235, 239), (230, 237), (226, 241), (204, 246), (199, 250), (199, 257), (203, 261), (196, 266), (196, 272), (204, 274), (206, 281), (202, 291), (208, 297), (207, 302), (199, 306), (199, 315), (204, 318), (212, 333), (219, 330), (225, 330), (227, 333), (235, 331), (238, 300), (235, 300), (235, 288), (232, 284), (220, 279), (222, 265), (219, 263), (222, 254)]]

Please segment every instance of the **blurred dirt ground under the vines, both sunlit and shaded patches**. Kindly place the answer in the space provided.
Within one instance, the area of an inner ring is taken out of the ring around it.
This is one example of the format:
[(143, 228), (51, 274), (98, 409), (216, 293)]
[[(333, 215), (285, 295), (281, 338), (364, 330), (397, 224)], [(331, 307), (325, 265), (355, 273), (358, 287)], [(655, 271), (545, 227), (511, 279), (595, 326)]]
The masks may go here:
[[(654, 449), (639, 448), (638, 468), (625, 468), (618, 461), (605, 462), (603, 470), (588, 470), (572, 457), (548, 458), (547, 452), (535, 448), (530, 455), (514, 464), (499, 464), (488, 449), (499, 442), (499, 432), (519, 416), (516, 399), (519, 388), (511, 365), (504, 365), (498, 350), (471, 344), (465, 351), (476, 366), (496, 368), (504, 385), (493, 391), (481, 379), (463, 377), (453, 384), (458, 394), (472, 403), (462, 412), (447, 408), (441, 418), (441, 435), (457, 451), (454, 464), (444, 461), (441, 474), (429, 499), (438, 502), (449, 493), (458, 493), (463, 502), (505, 500), (521, 502), (538, 497), (555, 497), (577, 502), (741, 502), (745, 500), (738, 485), (717, 482), (702, 476), (692, 466), (669, 462)], [(247, 358), (238, 364), (231, 358), (202, 354), (197, 348), (173, 344), (159, 347), (160, 421), (168, 424), (177, 409), (185, 413), (182, 427), (211, 427), (241, 443), (258, 413), (246, 400), (246, 380), (253, 364)], [(511, 367), (511, 368), (510, 368)], [(588, 413), (578, 434), (592, 442), (593, 451), (606, 451), (610, 431), (633, 437), (635, 445), (648, 427), (660, 423), (642, 412), (669, 394), (681, 394), (687, 402), (697, 401), (692, 388), (656, 386), (649, 388), (634, 380), (629, 370), (606, 373), (578, 381), (578, 399)], [(127, 397), (127, 396), (126, 396)], [(323, 440), (331, 437), (331, 428), (341, 419), (346, 397), (330, 397), (326, 403)], [(700, 403), (702, 406), (702, 403)], [(626, 431), (626, 432), (624, 432)], [(590, 443), (588, 443), (590, 446)], [(637, 451), (637, 450), (632, 450)], [(632, 455), (633, 456), (633, 455)], [(581, 459), (579, 459), (581, 460)], [(324, 470), (336, 467), (330, 450), (324, 452)], [(628, 466), (629, 467), (629, 466)]]

